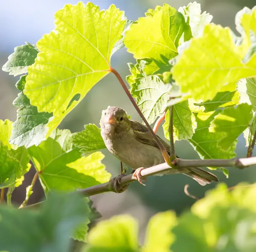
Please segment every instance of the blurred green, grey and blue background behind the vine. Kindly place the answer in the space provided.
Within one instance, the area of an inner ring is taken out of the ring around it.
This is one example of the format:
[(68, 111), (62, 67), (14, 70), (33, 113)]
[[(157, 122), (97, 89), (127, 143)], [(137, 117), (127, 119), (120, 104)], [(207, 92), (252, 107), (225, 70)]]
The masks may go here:
[[(76, 4), (76, 0), (2, 0), (0, 5), (0, 65), (7, 61), (7, 57), (14, 50), (15, 46), (24, 44), (25, 41), (36, 43), (43, 34), (54, 29), (54, 13), (64, 7), (66, 3)], [(144, 16), (147, 9), (154, 9), (156, 5), (169, 5), (178, 9), (186, 6), (189, 0), (93, 0), (99, 5), (99, 9), (107, 9), (112, 3), (120, 10), (125, 11), (128, 19), (137, 20)], [(84, 1), (86, 3), (86, 1)], [(235, 15), (244, 6), (252, 8), (256, 5), (255, 0), (198, 0), (201, 3), (202, 11), (207, 11), (213, 16), (212, 22), (222, 26), (230, 26), (235, 31)], [(129, 74), (128, 62), (135, 62), (131, 54), (123, 48), (113, 55), (111, 65), (116, 69), (123, 79)], [(0, 119), (6, 118), (16, 120), (16, 108), (12, 101), (17, 97), (18, 90), (15, 83), (19, 77), (13, 77), (6, 72), (0, 71)], [(86, 95), (84, 100), (77, 106), (61, 123), (61, 129), (70, 129), (71, 132), (78, 132), (84, 128), (84, 124), (95, 123), (99, 126), (101, 112), (108, 106), (119, 106), (125, 109), (134, 120), (140, 121), (135, 109), (128, 97), (123, 92), (116, 78), (109, 74)], [(163, 130), (160, 127), (157, 132), (163, 137)], [(198, 158), (192, 146), (186, 141), (175, 143), (177, 155), (181, 158)], [(246, 155), (245, 140), (241, 135), (237, 146), (239, 157)], [(107, 170), (113, 176), (119, 173), (119, 161), (108, 151), (105, 154)], [(230, 178), (226, 179), (221, 172), (215, 172), (221, 181), (228, 186), (234, 186), (241, 181), (256, 181), (256, 169), (250, 167), (244, 170), (229, 169)], [(25, 197), (25, 188), (31, 183), (35, 173), (34, 168), (26, 175), (22, 186), (13, 193), (13, 200), (21, 203)], [(109, 218), (116, 214), (128, 213), (140, 221), (140, 234), (143, 236), (144, 228), (148, 218), (155, 212), (174, 209), (177, 213), (189, 208), (194, 202), (184, 194), (184, 186), (189, 184), (189, 192), (198, 198), (203, 197), (204, 192), (213, 186), (200, 186), (197, 182), (184, 175), (170, 175), (163, 177), (148, 178), (146, 186), (133, 183), (128, 190), (122, 194), (106, 193), (96, 195), (91, 199), (94, 206), (102, 214), (102, 218)], [(30, 203), (35, 203), (44, 197), (39, 181), (36, 183), (34, 194)], [(142, 238), (142, 237), (141, 237)]]

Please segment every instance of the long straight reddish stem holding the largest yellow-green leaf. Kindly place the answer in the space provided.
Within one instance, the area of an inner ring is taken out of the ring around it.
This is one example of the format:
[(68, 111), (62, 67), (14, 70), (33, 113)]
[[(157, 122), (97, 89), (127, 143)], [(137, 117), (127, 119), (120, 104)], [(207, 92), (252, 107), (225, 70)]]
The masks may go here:
[(122, 88), (124, 89), (125, 93), (127, 94), (128, 98), (130, 99), (132, 105), (137, 110), (138, 114), (140, 115), (140, 117), (144, 121), (145, 125), (148, 127), (148, 130), (151, 132), (152, 136), (154, 137), (154, 140), (157, 142), (157, 145), (159, 146), (159, 149), (162, 152), (164, 160), (166, 161), (167, 164), (169, 164), (169, 166), (171, 166), (172, 163), (170, 162), (170, 157), (169, 157), (166, 149), (163, 147), (163, 144), (160, 142), (159, 138), (154, 133), (153, 129), (150, 127), (150, 125), (149, 125), (148, 121), (146, 120), (146, 118), (144, 117), (143, 113), (140, 111), (140, 108), (138, 107), (137, 103), (134, 100), (134, 97), (132, 97), (131, 93), (129, 92), (129, 89), (127, 88), (127, 86), (125, 85), (124, 81), (122, 80), (122, 77), (113, 68), (110, 69), (110, 72), (115, 74), (117, 80), (119, 80), (119, 83), (121, 84)]

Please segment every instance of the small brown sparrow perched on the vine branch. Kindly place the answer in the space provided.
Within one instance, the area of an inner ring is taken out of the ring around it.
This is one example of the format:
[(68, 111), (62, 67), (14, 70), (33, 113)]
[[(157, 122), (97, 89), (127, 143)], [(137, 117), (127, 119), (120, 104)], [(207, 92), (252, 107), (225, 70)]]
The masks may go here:
[[(165, 162), (162, 152), (148, 128), (137, 121), (130, 120), (123, 109), (108, 106), (102, 112), (100, 126), (102, 138), (109, 152), (122, 163), (130, 166), (134, 171), (134, 178), (141, 184), (143, 183), (140, 172), (143, 169)], [(157, 137), (170, 155), (169, 144), (159, 136)], [(187, 175), (201, 186), (212, 181), (219, 181), (214, 174), (197, 167), (170, 169), (157, 175), (175, 173)]]

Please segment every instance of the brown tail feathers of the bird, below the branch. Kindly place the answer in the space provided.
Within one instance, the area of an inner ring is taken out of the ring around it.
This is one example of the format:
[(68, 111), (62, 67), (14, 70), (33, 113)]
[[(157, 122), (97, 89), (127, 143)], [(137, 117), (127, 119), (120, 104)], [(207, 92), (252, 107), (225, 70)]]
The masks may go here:
[(201, 186), (205, 186), (206, 184), (214, 182), (218, 182), (219, 179), (217, 176), (212, 174), (211, 172), (207, 172), (201, 168), (197, 167), (191, 167), (188, 169), (185, 175), (193, 178), (195, 181), (197, 181)]

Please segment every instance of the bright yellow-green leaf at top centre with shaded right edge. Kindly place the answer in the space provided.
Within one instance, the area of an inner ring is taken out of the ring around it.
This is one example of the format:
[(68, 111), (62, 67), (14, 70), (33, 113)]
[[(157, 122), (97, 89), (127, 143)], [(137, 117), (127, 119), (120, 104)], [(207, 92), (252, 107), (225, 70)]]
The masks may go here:
[(149, 10), (146, 17), (140, 17), (125, 33), (124, 43), (134, 58), (148, 58), (147, 75), (154, 74), (160, 67), (168, 65), (175, 57), (179, 39), (183, 34), (183, 15), (168, 4)]

